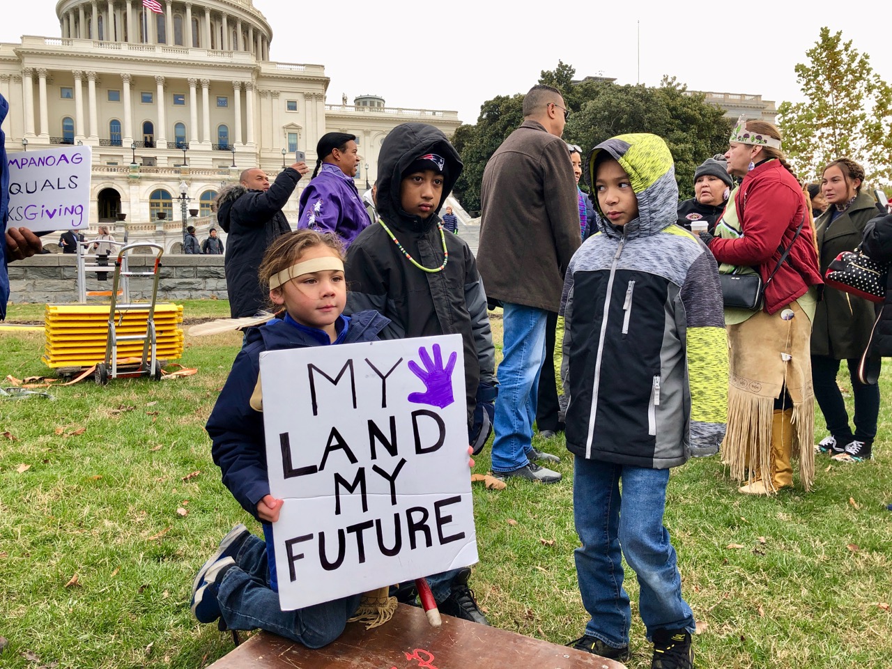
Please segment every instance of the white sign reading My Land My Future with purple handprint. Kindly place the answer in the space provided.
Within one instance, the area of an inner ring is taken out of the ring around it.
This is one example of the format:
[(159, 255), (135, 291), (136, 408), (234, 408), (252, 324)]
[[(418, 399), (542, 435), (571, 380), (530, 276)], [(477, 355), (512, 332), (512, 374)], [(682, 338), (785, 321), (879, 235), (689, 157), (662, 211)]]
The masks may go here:
[(260, 353), (283, 610), (477, 562), (461, 335)]

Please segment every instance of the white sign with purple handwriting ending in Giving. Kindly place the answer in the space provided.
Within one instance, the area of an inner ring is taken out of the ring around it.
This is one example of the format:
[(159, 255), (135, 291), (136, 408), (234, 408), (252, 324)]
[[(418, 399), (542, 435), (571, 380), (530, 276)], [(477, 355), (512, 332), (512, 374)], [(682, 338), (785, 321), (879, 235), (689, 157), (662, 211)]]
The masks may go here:
[(79, 230), (89, 225), (89, 146), (9, 153), (9, 225)]

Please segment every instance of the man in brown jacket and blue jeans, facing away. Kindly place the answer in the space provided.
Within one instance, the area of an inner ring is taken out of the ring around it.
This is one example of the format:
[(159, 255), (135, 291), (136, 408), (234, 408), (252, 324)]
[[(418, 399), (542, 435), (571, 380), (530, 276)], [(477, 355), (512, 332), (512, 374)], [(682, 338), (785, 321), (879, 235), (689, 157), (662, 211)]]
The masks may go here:
[(561, 478), (535, 463), (558, 458), (533, 449), (533, 420), (546, 318), (560, 307), (564, 273), (581, 243), (576, 181), (560, 138), (567, 116), (557, 88), (534, 86), (524, 97), (524, 122), (483, 170), (477, 267), (487, 296), (504, 308), (492, 442), (500, 478)]

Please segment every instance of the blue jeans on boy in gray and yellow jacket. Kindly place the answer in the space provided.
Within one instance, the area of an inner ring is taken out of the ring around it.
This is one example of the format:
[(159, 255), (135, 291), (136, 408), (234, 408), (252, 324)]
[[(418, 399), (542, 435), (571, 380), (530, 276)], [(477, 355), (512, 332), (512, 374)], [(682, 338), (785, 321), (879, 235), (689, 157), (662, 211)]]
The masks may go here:
[(668, 482), (668, 469), (574, 460), (573, 515), (582, 541), (574, 551), (576, 577), (582, 605), (591, 615), (585, 633), (609, 646), (627, 646), (632, 623), (621, 548), (638, 577), (648, 639), (660, 629), (694, 632), (694, 615), (681, 599), (675, 549), (663, 526)]

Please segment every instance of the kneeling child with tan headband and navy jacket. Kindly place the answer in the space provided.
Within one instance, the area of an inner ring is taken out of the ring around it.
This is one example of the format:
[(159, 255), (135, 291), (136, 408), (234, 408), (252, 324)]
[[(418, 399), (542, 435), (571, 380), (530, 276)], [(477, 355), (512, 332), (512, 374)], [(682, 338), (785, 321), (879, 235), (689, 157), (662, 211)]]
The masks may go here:
[(192, 589), (192, 611), (199, 622), (222, 617), (221, 627), (260, 627), (308, 648), (337, 639), (359, 607), (360, 596), (296, 611), (279, 606), (271, 523), (277, 521), (283, 501), (269, 494), (260, 353), (377, 339), (387, 318), (372, 310), (351, 317), (342, 313), (347, 300), (342, 249), (336, 235), (301, 230), (277, 237), (263, 258), (260, 283), (269, 285), (269, 299), (285, 307), (285, 313), (247, 330), (207, 430), (223, 483), (260, 520), (267, 541), (236, 525), (195, 576)]

